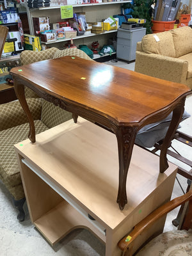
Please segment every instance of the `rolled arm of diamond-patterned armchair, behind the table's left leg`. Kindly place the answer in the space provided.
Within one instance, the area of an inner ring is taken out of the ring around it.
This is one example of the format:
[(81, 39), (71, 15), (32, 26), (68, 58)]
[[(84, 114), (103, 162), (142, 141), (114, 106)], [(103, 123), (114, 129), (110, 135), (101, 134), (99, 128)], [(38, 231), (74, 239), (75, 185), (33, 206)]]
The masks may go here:
[[(28, 98), (29, 109), (34, 120), (40, 120), (42, 112), (41, 98)], [(0, 131), (28, 122), (19, 100), (0, 104)]]

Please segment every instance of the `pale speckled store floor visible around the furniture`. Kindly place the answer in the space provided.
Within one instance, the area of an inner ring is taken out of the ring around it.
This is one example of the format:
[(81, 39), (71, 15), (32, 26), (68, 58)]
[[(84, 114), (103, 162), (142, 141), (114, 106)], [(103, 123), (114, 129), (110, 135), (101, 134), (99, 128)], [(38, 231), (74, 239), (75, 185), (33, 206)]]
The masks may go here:
[[(128, 64), (125, 61), (118, 60), (117, 62), (108, 61), (107, 64), (134, 70), (134, 62)], [(192, 115), (192, 95), (186, 100), (186, 110)], [(191, 127), (192, 117), (182, 122), (181, 130), (192, 135)], [(180, 145), (175, 145), (175, 147), (179, 147), (180, 151), (191, 159), (192, 152), (189, 152), (188, 148), (186, 149)], [(177, 175), (177, 177), (185, 191), (186, 179), (180, 175)], [(182, 195), (182, 189), (176, 180), (172, 198), (179, 195)], [(0, 256), (104, 256), (104, 244), (86, 230), (72, 232), (61, 243), (51, 248), (31, 224), (26, 204), (24, 208), (26, 220), (19, 223), (15, 218), (17, 211), (12, 205), (12, 198), (0, 182)], [(168, 214), (164, 231), (176, 229), (172, 225), (172, 220), (177, 216), (177, 212), (178, 209)]]

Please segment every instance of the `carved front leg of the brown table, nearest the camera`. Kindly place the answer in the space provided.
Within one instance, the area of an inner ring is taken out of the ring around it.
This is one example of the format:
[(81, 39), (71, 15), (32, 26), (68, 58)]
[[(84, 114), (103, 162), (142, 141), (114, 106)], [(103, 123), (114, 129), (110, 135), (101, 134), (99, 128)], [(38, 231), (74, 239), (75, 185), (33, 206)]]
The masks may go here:
[(131, 161), (132, 148), (136, 138), (136, 127), (119, 127), (116, 131), (118, 142), (118, 161), (119, 161), (119, 185), (116, 202), (120, 210), (127, 204), (126, 182), (129, 164)]

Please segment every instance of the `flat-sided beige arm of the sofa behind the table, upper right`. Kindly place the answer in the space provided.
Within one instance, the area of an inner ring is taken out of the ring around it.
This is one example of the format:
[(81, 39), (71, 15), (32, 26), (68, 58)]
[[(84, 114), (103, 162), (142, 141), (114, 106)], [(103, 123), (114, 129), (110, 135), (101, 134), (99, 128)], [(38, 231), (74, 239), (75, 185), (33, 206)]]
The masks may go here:
[(136, 51), (134, 71), (176, 83), (185, 83), (188, 61)]

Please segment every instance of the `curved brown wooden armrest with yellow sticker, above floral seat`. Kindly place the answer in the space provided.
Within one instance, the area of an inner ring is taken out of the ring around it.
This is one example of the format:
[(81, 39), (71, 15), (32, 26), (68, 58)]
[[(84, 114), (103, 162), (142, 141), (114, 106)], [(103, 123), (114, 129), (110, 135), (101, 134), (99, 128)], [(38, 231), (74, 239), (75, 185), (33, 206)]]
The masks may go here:
[(125, 254), (125, 252), (127, 251), (128, 248), (130, 248), (130, 249), (132, 248), (132, 244), (133, 244), (134, 240), (136, 239), (136, 237), (140, 236), (144, 230), (147, 230), (148, 228), (150, 228), (154, 224), (155, 221), (159, 220), (161, 217), (163, 217), (168, 212), (172, 211), (173, 209), (177, 208), (179, 205), (182, 205), (188, 201), (189, 201), (189, 212), (188, 212), (189, 217), (186, 218), (184, 226), (189, 227), (189, 225), (191, 223), (191, 216), (192, 216), (192, 189), (189, 190), (189, 192), (186, 193), (185, 195), (174, 198), (172, 201), (167, 202), (166, 204), (157, 208), (155, 211), (150, 213), (146, 218), (141, 220), (134, 227), (132, 232), (129, 234), (128, 239), (127, 239), (127, 236), (125, 236), (123, 239), (121, 239), (118, 242), (118, 247), (123, 251), (122, 255)]

